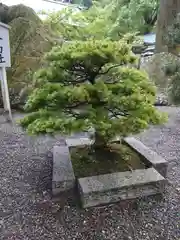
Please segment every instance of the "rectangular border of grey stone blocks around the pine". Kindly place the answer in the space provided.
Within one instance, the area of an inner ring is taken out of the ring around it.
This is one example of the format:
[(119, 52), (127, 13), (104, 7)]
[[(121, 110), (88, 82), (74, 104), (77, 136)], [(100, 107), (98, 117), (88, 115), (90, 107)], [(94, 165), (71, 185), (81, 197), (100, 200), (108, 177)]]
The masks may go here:
[[(123, 141), (139, 153), (149, 168), (77, 179), (83, 208), (163, 194), (167, 182), (167, 162), (133, 137)], [(66, 146), (53, 148), (53, 195), (73, 189), (76, 185), (69, 146), (89, 145), (92, 141), (88, 138), (71, 139), (66, 143)]]

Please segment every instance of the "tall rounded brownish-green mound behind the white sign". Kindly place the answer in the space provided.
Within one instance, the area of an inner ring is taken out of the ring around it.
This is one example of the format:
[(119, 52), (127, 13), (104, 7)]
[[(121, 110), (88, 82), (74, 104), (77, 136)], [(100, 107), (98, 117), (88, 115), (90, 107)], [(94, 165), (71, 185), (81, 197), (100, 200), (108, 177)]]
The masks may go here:
[[(34, 72), (42, 66), (45, 52), (52, 48), (50, 30), (33, 9), (22, 4), (0, 5), (2, 21), (11, 26), (10, 45), (12, 67), (7, 71), (11, 106), (24, 104), (32, 87)], [(0, 101), (2, 105), (2, 101)]]

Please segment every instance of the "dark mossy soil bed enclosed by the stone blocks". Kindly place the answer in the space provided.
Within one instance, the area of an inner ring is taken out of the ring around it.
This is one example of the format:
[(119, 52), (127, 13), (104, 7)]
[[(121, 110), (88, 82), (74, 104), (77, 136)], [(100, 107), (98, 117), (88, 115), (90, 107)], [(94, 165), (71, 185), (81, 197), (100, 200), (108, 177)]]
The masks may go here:
[(140, 156), (125, 144), (94, 151), (90, 146), (71, 147), (70, 154), (76, 177), (145, 169)]

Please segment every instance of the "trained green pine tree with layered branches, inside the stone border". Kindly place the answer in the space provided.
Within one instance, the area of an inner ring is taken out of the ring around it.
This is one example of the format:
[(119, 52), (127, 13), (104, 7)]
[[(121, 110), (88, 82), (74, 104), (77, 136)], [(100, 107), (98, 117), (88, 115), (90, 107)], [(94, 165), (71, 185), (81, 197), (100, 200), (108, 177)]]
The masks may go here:
[(70, 134), (94, 129), (94, 148), (116, 136), (138, 133), (163, 120), (154, 107), (155, 87), (132, 67), (125, 42), (77, 41), (55, 47), (21, 123), (28, 132)]

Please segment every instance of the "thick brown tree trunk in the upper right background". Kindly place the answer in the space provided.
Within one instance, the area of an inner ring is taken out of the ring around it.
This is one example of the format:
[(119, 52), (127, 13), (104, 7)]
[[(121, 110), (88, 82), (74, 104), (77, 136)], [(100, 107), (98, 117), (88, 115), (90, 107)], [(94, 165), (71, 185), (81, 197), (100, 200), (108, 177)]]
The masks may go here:
[(157, 21), (156, 52), (171, 52), (164, 42), (167, 27), (172, 24), (177, 14), (180, 13), (180, 0), (160, 0)]

